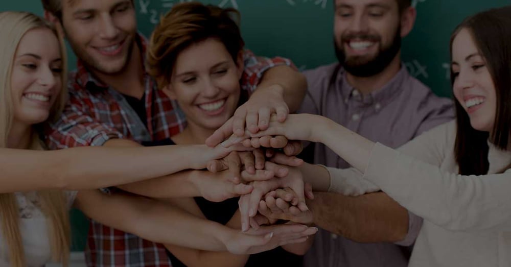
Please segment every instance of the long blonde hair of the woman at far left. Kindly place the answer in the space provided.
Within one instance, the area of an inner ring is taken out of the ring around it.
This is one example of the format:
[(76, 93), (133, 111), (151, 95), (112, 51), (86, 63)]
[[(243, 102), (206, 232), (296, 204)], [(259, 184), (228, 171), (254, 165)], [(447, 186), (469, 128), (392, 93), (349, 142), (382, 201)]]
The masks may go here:
[[(42, 18), (27, 12), (0, 12), (0, 148), (7, 147), (7, 138), (13, 120), (11, 96), (11, 74), (14, 57), (21, 38), (32, 29), (50, 29), (60, 41), (63, 71), (61, 74), (62, 89), (53, 105), (49, 119), (55, 119), (62, 111), (66, 100), (66, 54), (62, 36), (55, 28)], [(31, 150), (43, 150), (39, 138), (38, 126), (32, 128)], [(49, 222), (53, 260), (67, 265), (69, 260), (69, 243), (71, 230), (66, 207), (65, 195), (59, 190), (38, 191), (41, 210)], [(11, 266), (25, 266), (25, 252), (19, 230), (19, 211), (14, 193), (0, 194), (0, 212), (2, 214), (2, 233), (4, 244), (9, 247), (9, 262)], [(5, 253), (5, 252), (4, 252)]]

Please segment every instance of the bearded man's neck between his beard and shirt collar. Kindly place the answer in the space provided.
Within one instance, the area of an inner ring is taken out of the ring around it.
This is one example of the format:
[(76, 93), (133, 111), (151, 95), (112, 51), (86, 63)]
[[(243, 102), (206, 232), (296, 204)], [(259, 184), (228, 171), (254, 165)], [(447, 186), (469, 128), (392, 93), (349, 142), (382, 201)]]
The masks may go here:
[(388, 66), (379, 74), (371, 77), (357, 77), (346, 73), (348, 83), (357, 88), (362, 94), (366, 95), (385, 86), (401, 68), (401, 52), (399, 52)]

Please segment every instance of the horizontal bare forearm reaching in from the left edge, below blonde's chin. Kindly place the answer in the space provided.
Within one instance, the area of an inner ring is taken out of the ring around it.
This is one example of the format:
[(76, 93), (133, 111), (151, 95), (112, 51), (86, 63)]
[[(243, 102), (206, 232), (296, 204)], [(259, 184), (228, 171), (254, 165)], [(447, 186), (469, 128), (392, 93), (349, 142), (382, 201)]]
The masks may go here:
[(182, 151), (173, 146), (5, 149), (0, 153), (2, 192), (90, 189), (164, 176), (193, 167), (193, 152)]

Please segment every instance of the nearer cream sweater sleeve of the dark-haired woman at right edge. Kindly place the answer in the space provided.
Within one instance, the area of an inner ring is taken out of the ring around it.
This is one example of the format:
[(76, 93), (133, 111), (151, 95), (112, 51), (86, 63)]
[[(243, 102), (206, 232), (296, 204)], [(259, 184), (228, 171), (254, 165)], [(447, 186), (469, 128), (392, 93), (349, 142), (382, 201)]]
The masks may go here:
[(482, 176), (447, 173), (377, 143), (364, 178), (409, 211), (445, 229), (511, 230), (511, 172)]

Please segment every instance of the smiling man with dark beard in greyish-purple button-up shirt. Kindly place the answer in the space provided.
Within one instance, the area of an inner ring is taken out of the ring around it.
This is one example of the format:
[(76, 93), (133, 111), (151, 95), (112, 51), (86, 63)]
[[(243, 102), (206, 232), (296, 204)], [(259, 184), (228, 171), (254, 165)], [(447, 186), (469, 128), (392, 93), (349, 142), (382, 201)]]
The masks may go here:
[[(416, 16), (410, 2), (336, 0), (338, 63), (304, 72), (309, 92), (300, 111), (329, 117), (393, 148), (453, 119), (451, 100), (435, 96), (401, 62), (401, 39)], [(314, 144), (313, 154), (316, 164), (350, 167), (323, 144)], [(422, 219), (383, 192), (352, 198), (333, 193), (338, 190), (332, 185), (330, 191), (316, 193), (308, 203), (323, 229), (306, 255), (306, 266), (407, 266), (407, 247)]]

